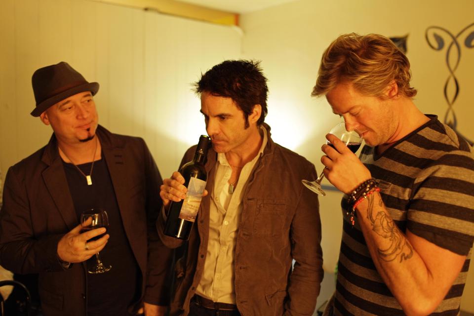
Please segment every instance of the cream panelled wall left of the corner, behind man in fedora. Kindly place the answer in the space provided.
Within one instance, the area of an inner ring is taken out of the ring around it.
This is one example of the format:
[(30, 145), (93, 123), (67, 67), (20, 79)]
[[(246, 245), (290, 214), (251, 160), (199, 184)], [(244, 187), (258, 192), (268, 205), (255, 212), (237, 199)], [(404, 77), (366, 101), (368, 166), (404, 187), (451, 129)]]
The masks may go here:
[(2, 0), (0, 38), (2, 179), (51, 135), (29, 114), (36, 69), (67, 61), (99, 82), (99, 122), (143, 137), (168, 177), (205, 133), (191, 82), (241, 48), (236, 27), (87, 0)]

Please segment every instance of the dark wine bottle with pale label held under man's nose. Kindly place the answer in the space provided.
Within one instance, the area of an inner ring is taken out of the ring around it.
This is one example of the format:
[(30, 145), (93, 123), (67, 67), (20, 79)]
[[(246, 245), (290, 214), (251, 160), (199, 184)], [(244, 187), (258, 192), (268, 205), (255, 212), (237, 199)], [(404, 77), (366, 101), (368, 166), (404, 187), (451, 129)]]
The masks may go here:
[(185, 240), (189, 238), (201, 203), (202, 193), (206, 187), (207, 172), (204, 168), (204, 162), (210, 141), (209, 136), (201, 135), (194, 159), (179, 169), (188, 192), (183, 200), (179, 202), (171, 201), (169, 204), (168, 219), (164, 228), (165, 235)]

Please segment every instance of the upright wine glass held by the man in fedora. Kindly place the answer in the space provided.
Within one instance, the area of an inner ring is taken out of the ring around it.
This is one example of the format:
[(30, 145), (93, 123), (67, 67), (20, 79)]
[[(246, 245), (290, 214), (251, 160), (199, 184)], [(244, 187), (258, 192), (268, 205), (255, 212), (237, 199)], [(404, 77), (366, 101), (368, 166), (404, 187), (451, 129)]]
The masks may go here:
[[(87, 225), (87, 226), (82, 226), (82, 233), (86, 232), (86, 231), (93, 230), (93, 229), (97, 229), (97, 228), (102, 228), (102, 227), (107, 228), (107, 227), (109, 227), (109, 216), (107, 215), (107, 212), (103, 209), (91, 208), (91, 209), (88, 209), (86, 211), (83, 211), (80, 214), (80, 222), (82, 224), (87, 222), (87, 220), (89, 218), (92, 219), (92, 223), (90, 225)], [(101, 235), (96, 236), (96, 237), (92, 237), (89, 240), (97, 240), (100, 237), (104, 236), (104, 234), (101, 234)], [(95, 262), (94, 266), (89, 267), (89, 269), (87, 269), (88, 273), (92, 273), (92, 274), (104, 273), (104, 272), (109, 271), (112, 268), (111, 265), (104, 265), (102, 263), (102, 261), (100, 260), (98, 252), (95, 254), (95, 261), (96, 262)]]

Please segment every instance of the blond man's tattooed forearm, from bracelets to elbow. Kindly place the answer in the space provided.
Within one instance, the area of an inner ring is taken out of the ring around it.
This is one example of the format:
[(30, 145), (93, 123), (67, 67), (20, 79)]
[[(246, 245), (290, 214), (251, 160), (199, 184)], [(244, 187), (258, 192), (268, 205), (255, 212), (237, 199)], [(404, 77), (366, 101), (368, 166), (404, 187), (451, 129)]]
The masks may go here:
[(440, 280), (403, 234), (375, 192), (357, 206), (357, 221), (380, 276), (407, 315), (430, 314), (452, 281)]

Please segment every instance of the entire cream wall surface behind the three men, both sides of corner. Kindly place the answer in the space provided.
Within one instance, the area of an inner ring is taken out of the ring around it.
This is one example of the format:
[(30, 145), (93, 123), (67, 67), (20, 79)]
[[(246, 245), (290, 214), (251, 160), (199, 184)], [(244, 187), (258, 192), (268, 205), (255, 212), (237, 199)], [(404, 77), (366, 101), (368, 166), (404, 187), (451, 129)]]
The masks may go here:
[[(31, 75), (65, 60), (101, 84), (100, 122), (110, 130), (144, 137), (163, 176), (176, 169), (184, 150), (204, 133), (190, 82), (224, 59), (261, 59), (269, 78), (269, 115), (275, 140), (321, 169), (323, 134), (339, 118), (323, 99), (310, 97), (321, 53), (348, 32), (409, 34), (408, 57), (418, 106), (442, 117), (445, 50), (428, 47), (424, 33), (437, 25), (457, 34), (474, 22), (471, 0), (300, 0), (241, 16), (236, 28), (215, 26), (87, 0), (0, 1), (0, 170), (39, 149), (49, 127), (29, 115)], [(243, 44), (242, 44), (243, 40)], [(469, 98), (474, 51), (463, 48), (455, 104), (459, 129), (474, 139)], [(1, 188), (1, 185), (0, 185)], [(320, 198), (324, 268), (332, 273), (342, 235), (341, 195)], [(474, 265), (462, 307), (474, 312)], [(331, 284), (327, 279), (326, 284)], [(328, 285), (330, 287), (330, 285)], [(322, 296), (329, 292), (323, 289)], [(320, 299), (319, 302), (322, 302)], [(318, 303), (319, 304), (319, 303)]]

